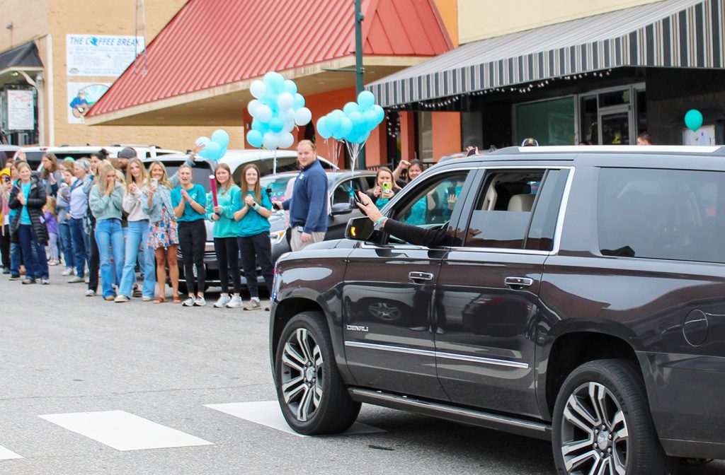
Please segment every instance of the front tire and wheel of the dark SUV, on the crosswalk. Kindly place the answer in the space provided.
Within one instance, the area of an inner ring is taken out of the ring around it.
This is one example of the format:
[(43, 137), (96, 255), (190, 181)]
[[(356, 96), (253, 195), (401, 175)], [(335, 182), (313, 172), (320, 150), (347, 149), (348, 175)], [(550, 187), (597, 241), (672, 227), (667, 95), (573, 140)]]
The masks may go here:
[(323, 314), (306, 311), (282, 330), (275, 354), (275, 384), (282, 414), (300, 434), (336, 434), (357, 419), (337, 369)]

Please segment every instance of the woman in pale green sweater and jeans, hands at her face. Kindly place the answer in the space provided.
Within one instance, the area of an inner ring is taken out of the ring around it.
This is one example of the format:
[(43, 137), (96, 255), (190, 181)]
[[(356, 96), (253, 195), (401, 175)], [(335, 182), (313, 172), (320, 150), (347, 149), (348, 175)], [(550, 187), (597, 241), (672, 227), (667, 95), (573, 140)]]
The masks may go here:
[[(95, 238), (101, 265), (101, 290), (103, 298), (116, 298), (114, 285), (121, 281), (123, 267), (123, 184), (116, 177), (116, 169), (109, 164), (97, 169), (96, 182), (88, 195), (88, 207), (96, 219)], [(111, 263), (111, 255), (113, 262)]]

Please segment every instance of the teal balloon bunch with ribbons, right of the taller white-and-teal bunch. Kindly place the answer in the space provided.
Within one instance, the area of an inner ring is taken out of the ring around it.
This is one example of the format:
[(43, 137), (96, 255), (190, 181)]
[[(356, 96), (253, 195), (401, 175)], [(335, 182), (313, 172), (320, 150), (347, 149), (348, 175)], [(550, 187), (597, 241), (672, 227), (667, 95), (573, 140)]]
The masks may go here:
[(357, 102), (348, 102), (325, 117), (318, 119), (318, 133), (322, 138), (344, 140), (347, 151), (352, 157), (352, 169), (355, 169), (360, 148), (370, 137), (375, 127), (385, 119), (385, 111), (375, 104), (375, 96), (370, 91), (357, 95)]

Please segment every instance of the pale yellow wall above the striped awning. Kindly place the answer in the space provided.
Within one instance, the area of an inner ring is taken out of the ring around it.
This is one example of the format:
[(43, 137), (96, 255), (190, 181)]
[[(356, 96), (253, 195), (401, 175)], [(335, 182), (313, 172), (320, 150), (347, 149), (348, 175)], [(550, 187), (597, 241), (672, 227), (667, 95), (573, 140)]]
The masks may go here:
[(660, 0), (458, 0), (458, 40), (470, 43)]

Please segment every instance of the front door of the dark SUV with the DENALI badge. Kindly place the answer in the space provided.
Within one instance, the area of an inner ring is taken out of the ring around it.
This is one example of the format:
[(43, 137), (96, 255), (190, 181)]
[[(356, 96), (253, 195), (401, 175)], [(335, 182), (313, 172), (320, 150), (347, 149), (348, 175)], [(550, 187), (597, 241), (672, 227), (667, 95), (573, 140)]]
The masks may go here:
[[(447, 193), (457, 184), (460, 191), (467, 175), (421, 177), (395, 200), (388, 216), (415, 226), (448, 227), (456, 219), (457, 201)], [(447, 400), (436, 375), (431, 327), (433, 293), (446, 253), (447, 248), (404, 243), (381, 232), (352, 251), (342, 291), (343, 334), (357, 384)]]

